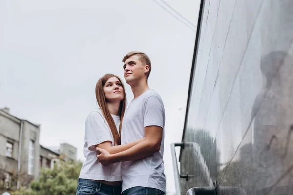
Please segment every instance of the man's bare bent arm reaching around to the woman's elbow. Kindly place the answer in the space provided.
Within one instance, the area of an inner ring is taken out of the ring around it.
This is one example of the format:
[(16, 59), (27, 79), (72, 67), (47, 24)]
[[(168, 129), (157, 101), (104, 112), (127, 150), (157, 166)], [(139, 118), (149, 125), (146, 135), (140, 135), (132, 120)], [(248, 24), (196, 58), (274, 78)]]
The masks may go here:
[(146, 139), (135, 146), (116, 154), (109, 154), (107, 151), (97, 148), (101, 154), (97, 155), (99, 161), (107, 166), (111, 163), (138, 160), (158, 152), (161, 147), (163, 128), (159, 126), (145, 127)]

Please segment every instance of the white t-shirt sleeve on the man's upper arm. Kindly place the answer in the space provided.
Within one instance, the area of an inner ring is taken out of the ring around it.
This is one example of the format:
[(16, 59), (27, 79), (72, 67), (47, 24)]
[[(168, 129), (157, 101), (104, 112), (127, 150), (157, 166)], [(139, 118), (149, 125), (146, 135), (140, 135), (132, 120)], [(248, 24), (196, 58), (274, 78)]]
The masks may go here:
[(144, 104), (144, 127), (159, 126), (164, 128), (165, 110), (163, 102), (156, 96), (150, 96)]

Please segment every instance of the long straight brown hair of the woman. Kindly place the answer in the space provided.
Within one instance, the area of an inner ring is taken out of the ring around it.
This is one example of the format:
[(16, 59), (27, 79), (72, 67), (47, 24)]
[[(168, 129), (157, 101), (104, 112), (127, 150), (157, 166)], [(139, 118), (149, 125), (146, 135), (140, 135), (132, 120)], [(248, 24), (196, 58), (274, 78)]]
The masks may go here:
[[(124, 99), (121, 100), (121, 102), (120, 102), (119, 112), (118, 112), (118, 115), (120, 116), (119, 133), (117, 131), (115, 122), (113, 120), (113, 117), (111, 116), (110, 111), (108, 109), (108, 106), (107, 106), (107, 103), (106, 103), (107, 100), (105, 98), (105, 93), (104, 93), (104, 89), (103, 89), (105, 83), (111, 77), (118, 78), (118, 80), (120, 81), (121, 86), (123, 88), (123, 94), (124, 94)], [(120, 145), (121, 144), (120, 137), (121, 137), (122, 120), (123, 120), (124, 112), (125, 112), (125, 109), (126, 109), (126, 93), (125, 93), (125, 88), (124, 88), (124, 84), (123, 84), (122, 80), (116, 75), (105, 74), (103, 77), (101, 77), (98, 80), (98, 82), (96, 84), (96, 98), (97, 98), (97, 102), (98, 102), (98, 104), (99, 104), (99, 106), (100, 106), (100, 108), (101, 108), (101, 110), (103, 112), (103, 115), (104, 115), (107, 123), (110, 126), (110, 129), (111, 129), (111, 132), (112, 132), (112, 135), (113, 135), (113, 139), (114, 139), (114, 145), (115, 144)]]

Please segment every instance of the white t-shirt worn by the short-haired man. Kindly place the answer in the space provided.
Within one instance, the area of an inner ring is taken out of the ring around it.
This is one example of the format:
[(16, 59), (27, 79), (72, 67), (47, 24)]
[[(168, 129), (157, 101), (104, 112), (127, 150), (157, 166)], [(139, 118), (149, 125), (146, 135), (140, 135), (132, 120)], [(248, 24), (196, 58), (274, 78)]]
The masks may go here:
[(166, 193), (163, 162), (165, 109), (161, 97), (152, 89), (131, 101), (122, 121), (121, 144), (145, 137), (147, 126), (163, 128), (160, 151), (140, 160), (121, 163), (122, 191), (141, 186)]

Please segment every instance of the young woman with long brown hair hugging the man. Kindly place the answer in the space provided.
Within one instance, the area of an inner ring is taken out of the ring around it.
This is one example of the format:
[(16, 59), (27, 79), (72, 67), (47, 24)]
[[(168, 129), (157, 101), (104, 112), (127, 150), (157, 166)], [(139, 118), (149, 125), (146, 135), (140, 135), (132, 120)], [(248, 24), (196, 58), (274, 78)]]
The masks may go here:
[(118, 76), (106, 74), (96, 84), (99, 109), (85, 121), (84, 157), (76, 195), (120, 195), (120, 163), (103, 166), (96, 147), (115, 154), (131, 148), (143, 139), (120, 145), (121, 123), (126, 108), (124, 85)]

